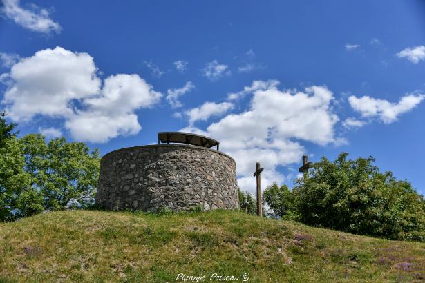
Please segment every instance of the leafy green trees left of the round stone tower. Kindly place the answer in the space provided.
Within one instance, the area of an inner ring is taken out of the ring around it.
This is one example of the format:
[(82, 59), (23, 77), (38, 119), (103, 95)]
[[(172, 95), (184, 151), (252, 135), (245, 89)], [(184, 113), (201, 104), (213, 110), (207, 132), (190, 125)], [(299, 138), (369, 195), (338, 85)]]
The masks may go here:
[(100, 158), (82, 142), (30, 134), (0, 148), (0, 220), (60, 210), (71, 199), (93, 197)]

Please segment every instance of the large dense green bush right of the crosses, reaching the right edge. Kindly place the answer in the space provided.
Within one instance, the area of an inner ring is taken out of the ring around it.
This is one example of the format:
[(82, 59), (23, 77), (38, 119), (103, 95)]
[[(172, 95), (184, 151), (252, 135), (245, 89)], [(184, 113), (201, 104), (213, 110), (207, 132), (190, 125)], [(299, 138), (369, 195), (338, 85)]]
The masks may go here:
[(425, 202), (407, 181), (380, 173), (375, 159), (322, 157), (292, 191), (301, 222), (350, 233), (425, 241)]

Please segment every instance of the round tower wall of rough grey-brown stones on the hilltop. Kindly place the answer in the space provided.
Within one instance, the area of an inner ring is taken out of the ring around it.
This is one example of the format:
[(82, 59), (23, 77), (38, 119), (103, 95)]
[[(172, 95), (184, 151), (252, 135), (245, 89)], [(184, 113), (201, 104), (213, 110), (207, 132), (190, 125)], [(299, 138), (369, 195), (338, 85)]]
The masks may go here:
[(238, 208), (236, 164), (200, 146), (122, 148), (102, 157), (96, 203), (112, 210)]

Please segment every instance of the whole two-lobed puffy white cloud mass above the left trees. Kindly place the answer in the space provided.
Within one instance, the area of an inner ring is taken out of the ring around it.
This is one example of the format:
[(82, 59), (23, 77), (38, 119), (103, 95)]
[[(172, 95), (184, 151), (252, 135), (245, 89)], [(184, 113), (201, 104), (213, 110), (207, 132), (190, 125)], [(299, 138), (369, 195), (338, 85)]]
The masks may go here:
[(141, 129), (135, 110), (149, 108), (162, 96), (138, 75), (102, 80), (93, 57), (57, 47), (36, 52), (13, 65), (2, 104), (10, 118), (57, 117), (75, 139), (107, 142)]

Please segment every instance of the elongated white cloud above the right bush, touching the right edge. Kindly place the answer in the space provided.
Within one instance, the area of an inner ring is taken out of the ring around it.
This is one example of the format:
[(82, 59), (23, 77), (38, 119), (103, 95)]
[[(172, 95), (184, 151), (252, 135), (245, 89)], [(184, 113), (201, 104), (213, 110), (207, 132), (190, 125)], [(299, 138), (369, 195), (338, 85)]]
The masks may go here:
[(375, 99), (369, 96), (360, 98), (354, 95), (348, 97), (350, 106), (362, 117), (379, 117), (385, 124), (397, 121), (398, 116), (412, 110), (419, 104), (425, 95), (405, 95), (397, 104), (384, 99)]

